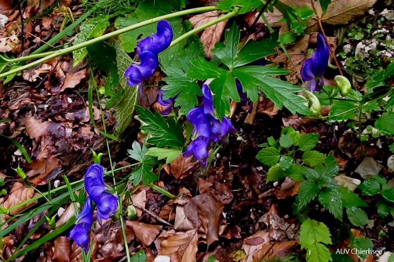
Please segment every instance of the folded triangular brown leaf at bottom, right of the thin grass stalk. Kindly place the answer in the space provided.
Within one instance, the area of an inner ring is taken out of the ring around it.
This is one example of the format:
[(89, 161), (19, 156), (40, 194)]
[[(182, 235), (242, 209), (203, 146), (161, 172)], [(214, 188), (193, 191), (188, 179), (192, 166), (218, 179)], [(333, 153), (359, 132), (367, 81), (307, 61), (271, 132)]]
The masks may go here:
[(126, 221), (126, 225), (131, 226), (134, 230), (137, 240), (146, 248), (155, 240), (163, 226), (149, 225), (138, 221)]

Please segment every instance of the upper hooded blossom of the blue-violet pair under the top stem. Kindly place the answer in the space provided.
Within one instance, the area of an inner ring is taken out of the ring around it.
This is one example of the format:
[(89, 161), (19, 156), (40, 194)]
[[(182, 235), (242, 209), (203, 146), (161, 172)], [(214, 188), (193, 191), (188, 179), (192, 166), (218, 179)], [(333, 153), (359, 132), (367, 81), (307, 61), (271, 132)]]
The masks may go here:
[(156, 29), (156, 34), (148, 36), (138, 42), (136, 49), (138, 55), (148, 51), (157, 56), (170, 46), (173, 39), (171, 24), (167, 20), (160, 20), (157, 23)]

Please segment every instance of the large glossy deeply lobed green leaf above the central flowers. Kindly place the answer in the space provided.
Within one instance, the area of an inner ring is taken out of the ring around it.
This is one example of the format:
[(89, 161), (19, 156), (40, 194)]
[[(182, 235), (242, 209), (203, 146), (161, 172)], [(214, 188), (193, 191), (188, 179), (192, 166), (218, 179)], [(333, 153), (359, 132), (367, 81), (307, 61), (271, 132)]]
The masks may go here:
[[(243, 91), (253, 102), (257, 101), (258, 89), (261, 89), (278, 108), (286, 106), (292, 113), (310, 114), (307, 107), (303, 105), (303, 98), (294, 94), (301, 91), (301, 88), (272, 77), (286, 74), (286, 70), (275, 66), (244, 66), (273, 54), (271, 50), (278, 45), (278, 42), (274, 39), (250, 42), (245, 46), (246, 51), (243, 51), (238, 48), (239, 39), (239, 30), (233, 24), (230, 30), (225, 32), (226, 44), (217, 43), (212, 50), (226, 67), (215, 66), (199, 58), (192, 61), (193, 67), (187, 72), (188, 77), (198, 80), (214, 78), (209, 86), (215, 94), (213, 101), (219, 119), (229, 111), (229, 99), (240, 101), (234, 77), (239, 79)], [(249, 51), (252, 50), (253, 53), (250, 55)]]

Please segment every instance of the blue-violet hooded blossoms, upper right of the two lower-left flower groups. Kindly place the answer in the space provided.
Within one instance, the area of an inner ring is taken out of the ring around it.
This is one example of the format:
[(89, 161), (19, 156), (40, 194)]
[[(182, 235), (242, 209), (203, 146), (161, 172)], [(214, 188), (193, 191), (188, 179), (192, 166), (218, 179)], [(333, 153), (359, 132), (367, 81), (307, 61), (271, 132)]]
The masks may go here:
[(96, 204), (97, 221), (101, 225), (101, 219), (108, 219), (115, 214), (119, 197), (106, 192), (108, 188), (104, 183), (104, 168), (100, 164), (93, 164), (86, 171), (85, 190)]

